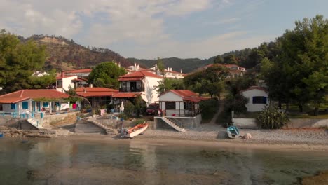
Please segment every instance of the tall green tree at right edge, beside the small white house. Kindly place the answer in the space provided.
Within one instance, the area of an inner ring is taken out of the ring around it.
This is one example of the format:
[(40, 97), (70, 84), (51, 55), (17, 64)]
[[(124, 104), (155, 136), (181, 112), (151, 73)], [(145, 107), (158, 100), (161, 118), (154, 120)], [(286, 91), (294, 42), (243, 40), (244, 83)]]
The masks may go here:
[(315, 102), (315, 114), (326, 93), (324, 76), (328, 61), (328, 20), (322, 15), (296, 21), (293, 30), (280, 38), (281, 59), (288, 70), (287, 88), (300, 110), (308, 101)]

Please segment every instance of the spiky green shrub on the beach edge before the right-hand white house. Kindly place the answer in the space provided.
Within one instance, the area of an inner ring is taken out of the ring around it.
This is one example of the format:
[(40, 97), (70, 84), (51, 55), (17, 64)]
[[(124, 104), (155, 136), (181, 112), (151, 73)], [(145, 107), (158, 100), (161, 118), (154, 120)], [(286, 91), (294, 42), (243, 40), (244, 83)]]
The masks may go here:
[(264, 108), (257, 117), (261, 128), (278, 129), (287, 125), (289, 118), (284, 112), (278, 111), (273, 105)]

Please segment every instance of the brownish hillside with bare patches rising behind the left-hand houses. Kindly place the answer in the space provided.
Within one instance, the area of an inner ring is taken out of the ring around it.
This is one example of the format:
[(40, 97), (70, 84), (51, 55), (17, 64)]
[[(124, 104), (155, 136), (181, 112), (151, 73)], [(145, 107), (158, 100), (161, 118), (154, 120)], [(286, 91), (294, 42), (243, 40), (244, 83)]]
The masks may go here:
[(48, 58), (46, 69), (79, 69), (93, 67), (101, 62), (116, 61), (128, 67), (131, 63), (124, 57), (106, 48), (89, 48), (75, 43), (62, 36), (34, 35), (27, 39), (20, 37), (21, 41), (32, 39), (46, 46)]

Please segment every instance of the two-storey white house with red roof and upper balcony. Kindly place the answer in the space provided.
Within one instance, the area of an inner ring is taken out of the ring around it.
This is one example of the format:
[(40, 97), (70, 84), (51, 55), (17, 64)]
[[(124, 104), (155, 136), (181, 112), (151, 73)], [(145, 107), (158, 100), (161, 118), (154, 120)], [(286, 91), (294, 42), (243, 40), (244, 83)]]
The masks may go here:
[(149, 71), (135, 71), (120, 76), (118, 81), (120, 89), (113, 95), (114, 98), (127, 99), (141, 95), (146, 104), (151, 104), (158, 101), (157, 86), (163, 81), (163, 77)]

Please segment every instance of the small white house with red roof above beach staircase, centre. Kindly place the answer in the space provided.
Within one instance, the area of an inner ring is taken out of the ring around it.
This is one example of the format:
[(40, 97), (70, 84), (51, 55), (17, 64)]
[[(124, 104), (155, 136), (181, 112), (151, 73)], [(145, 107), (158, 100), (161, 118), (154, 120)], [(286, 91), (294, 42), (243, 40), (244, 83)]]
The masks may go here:
[(196, 116), (202, 100), (205, 98), (190, 90), (168, 90), (160, 95), (159, 104), (166, 116)]

